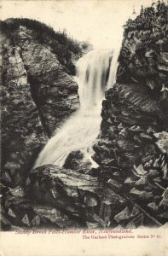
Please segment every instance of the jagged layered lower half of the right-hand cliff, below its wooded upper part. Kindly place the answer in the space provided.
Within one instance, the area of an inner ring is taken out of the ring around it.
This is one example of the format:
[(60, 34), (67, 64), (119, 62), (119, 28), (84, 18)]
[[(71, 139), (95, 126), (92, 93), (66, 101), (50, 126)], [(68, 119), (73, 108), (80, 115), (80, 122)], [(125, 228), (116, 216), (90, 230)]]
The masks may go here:
[(168, 166), (157, 134), (166, 127), (166, 113), (137, 84), (115, 84), (106, 99), (101, 137), (94, 147), (94, 160), (101, 167), (99, 177), (145, 209), (151, 203), (159, 208), (168, 186)]

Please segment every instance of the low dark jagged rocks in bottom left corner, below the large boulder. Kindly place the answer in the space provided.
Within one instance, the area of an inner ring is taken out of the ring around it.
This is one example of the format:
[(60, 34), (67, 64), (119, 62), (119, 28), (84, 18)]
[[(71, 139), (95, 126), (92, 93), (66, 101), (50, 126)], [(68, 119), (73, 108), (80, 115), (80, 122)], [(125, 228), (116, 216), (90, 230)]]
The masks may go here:
[(23, 229), (79, 227), (78, 222), (68, 218), (63, 212), (55, 209), (55, 207), (38, 204), (32, 199), (28, 199), (25, 194), (18, 192), (20, 190), (23, 189), (11, 189), (10, 193), (3, 195), (3, 230), (18, 230), (18, 227)]

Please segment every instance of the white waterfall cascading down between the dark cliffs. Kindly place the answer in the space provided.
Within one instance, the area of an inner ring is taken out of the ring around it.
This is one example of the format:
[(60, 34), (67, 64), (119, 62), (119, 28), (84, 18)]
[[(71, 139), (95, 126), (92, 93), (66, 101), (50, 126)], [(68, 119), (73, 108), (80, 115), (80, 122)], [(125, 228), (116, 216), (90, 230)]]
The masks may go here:
[(34, 167), (63, 166), (67, 155), (78, 149), (96, 166), (91, 159), (92, 146), (100, 131), (104, 91), (115, 82), (118, 56), (119, 50), (92, 50), (78, 61), (76, 81), (80, 109), (49, 139)]

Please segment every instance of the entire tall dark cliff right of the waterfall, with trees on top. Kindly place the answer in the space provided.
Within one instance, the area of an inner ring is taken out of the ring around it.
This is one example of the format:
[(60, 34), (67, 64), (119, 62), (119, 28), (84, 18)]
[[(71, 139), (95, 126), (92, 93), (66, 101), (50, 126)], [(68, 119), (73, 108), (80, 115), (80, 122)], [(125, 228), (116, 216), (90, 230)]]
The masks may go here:
[[(165, 3), (154, 13), (151, 9), (142, 9), (125, 25), (118, 83), (102, 102), (101, 134), (93, 158), (100, 165), (100, 179), (164, 224), (168, 219)], [(146, 25), (143, 21), (151, 17), (157, 22)]]

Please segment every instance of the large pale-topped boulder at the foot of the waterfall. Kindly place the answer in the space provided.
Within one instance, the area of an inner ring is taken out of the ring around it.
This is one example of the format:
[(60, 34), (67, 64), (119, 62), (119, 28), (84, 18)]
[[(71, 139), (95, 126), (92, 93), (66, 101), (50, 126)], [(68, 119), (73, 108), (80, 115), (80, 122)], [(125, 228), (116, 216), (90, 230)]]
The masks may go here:
[[(26, 195), (47, 203), (84, 224), (111, 224), (113, 214), (125, 206), (111, 184), (103, 186), (96, 177), (57, 166), (42, 166), (29, 174)], [(107, 205), (107, 206), (105, 206)], [(117, 207), (118, 206), (118, 207)], [(117, 208), (116, 208), (117, 207)]]

